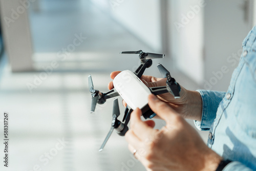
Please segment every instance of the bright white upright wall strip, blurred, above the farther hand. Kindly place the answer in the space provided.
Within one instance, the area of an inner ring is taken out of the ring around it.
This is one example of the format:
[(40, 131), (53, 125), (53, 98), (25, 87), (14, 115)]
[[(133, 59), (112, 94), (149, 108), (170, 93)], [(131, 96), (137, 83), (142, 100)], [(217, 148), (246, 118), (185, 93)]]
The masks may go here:
[(203, 14), (197, 0), (169, 1), (171, 56), (175, 67), (201, 84), (203, 81)]

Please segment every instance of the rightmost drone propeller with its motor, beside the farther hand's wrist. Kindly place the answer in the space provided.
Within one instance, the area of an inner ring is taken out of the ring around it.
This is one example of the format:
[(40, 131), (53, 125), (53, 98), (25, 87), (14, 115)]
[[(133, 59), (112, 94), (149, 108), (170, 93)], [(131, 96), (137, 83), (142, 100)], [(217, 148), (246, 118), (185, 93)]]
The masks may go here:
[(174, 98), (180, 98), (180, 84), (176, 82), (176, 80), (170, 76), (170, 73), (168, 70), (166, 70), (161, 63), (157, 65), (158, 70), (162, 74), (164, 78), (167, 78), (166, 84), (169, 88), (168, 91), (174, 96)]

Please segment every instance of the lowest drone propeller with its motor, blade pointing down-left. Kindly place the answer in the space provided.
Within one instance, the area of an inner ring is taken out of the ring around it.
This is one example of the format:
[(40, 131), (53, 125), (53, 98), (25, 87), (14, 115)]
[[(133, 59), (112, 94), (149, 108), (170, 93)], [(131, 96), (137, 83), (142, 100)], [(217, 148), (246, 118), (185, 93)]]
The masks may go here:
[(120, 115), (119, 105), (118, 105), (118, 99), (114, 99), (113, 104), (113, 114), (112, 114), (112, 124), (110, 127), (110, 131), (108, 135), (106, 135), (105, 140), (103, 141), (102, 145), (100, 146), (99, 152), (101, 152), (106, 144), (106, 142), (109, 140), (112, 132), (114, 129), (117, 130), (117, 133), (121, 136), (124, 136), (124, 134), (128, 131), (128, 126), (126, 124), (123, 124), (120, 122), (117, 117)]

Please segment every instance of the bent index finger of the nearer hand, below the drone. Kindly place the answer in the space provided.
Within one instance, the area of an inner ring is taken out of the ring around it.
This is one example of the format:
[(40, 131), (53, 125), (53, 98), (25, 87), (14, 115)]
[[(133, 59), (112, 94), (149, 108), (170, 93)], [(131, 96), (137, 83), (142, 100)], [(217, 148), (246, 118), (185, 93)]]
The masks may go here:
[(141, 140), (145, 140), (154, 131), (151, 126), (148, 126), (148, 124), (153, 125), (153, 123), (143, 122), (140, 118), (141, 114), (141, 110), (138, 108), (131, 113), (130, 127), (137, 137)]

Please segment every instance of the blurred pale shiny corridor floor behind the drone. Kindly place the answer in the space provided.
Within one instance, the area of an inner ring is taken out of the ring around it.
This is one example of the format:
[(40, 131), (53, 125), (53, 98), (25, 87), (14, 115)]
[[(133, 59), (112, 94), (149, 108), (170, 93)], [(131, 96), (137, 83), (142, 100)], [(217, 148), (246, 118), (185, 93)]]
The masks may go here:
[[(0, 121), (8, 112), (10, 151), (9, 167), (0, 169), (145, 170), (124, 137), (115, 133), (98, 152), (111, 126), (113, 100), (90, 114), (87, 81), (91, 74), (95, 88), (106, 92), (112, 71), (134, 70), (139, 64), (137, 57), (119, 52), (151, 49), (90, 1), (39, 3), (40, 8), (30, 14), (36, 71), (11, 73), (7, 61), (1, 63)], [(80, 35), (81, 44), (72, 46)], [(152, 68), (146, 74), (160, 76), (157, 72)], [(171, 72), (187, 89), (197, 89), (183, 74)], [(164, 125), (156, 122), (158, 128)], [(206, 141), (207, 132), (201, 135)]]

